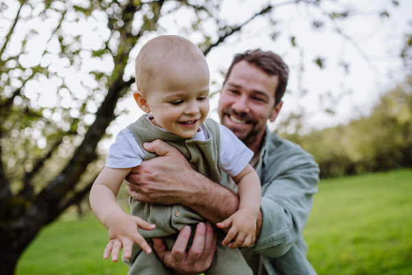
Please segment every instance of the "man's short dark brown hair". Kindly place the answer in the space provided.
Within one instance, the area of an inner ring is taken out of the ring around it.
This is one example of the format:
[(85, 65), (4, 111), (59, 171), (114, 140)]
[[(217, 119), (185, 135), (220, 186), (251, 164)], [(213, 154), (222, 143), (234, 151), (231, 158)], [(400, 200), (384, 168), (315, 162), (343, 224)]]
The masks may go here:
[(288, 65), (284, 63), (282, 58), (271, 51), (263, 52), (260, 49), (254, 50), (253, 52), (249, 50), (244, 54), (236, 54), (229, 69), (227, 70), (223, 86), (225, 86), (226, 81), (229, 79), (233, 66), (240, 61), (247, 61), (248, 63), (251, 63), (264, 70), (264, 72), (266, 72), (266, 74), (268, 75), (278, 76), (279, 83), (277, 83), (275, 91), (275, 104), (279, 103), (285, 93), (289, 75)]

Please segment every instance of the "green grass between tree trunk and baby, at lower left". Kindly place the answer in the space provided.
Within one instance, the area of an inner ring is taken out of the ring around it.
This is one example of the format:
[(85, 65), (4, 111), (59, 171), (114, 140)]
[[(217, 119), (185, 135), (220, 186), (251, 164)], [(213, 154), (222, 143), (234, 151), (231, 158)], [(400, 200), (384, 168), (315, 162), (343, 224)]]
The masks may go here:
[(117, 263), (103, 259), (107, 241), (106, 228), (91, 215), (52, 223), (25, 251), (17, 275), (127, 274), (121, 259)]

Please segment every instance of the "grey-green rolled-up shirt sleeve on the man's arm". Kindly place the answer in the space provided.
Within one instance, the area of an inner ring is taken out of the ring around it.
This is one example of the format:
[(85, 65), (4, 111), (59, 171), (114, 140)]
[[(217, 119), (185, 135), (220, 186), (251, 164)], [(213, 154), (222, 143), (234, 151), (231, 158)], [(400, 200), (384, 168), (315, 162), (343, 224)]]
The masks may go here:
[(319, 167), (299, 146), (284, 142), (264, 157), (262, 168), (262, 228), (249, 247), (264, 256), (284, 255), (301, 236), (317, 192)]

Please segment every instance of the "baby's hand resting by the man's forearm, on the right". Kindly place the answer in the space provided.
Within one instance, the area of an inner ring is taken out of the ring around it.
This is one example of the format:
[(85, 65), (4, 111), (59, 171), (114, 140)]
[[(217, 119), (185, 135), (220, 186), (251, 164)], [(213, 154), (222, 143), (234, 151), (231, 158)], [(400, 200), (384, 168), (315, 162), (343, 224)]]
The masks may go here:
[(236, 235), (236, 240), (227, 245), (228, 248), (247, 248), (255, 243), (256, 219), (258, 216), (250, 210), (240, 209), (232, 214), (229, 218), (218, 223), (218, 228), (227, 228), (231, 226), (222, 245), (227, 245)]

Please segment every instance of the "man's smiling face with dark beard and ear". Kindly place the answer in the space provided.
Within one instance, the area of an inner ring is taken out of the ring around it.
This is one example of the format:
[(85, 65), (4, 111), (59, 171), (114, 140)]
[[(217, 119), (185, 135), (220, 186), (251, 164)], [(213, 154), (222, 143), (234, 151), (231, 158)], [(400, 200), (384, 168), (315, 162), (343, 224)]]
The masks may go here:
[(218, 111), (222, 124), (244, 144), (260, 142), (266, 121), (277, 117), (282, 107), (282, 102), (275, 106), (278, 80), (247, 61), (233, 66), (220, 94)]

